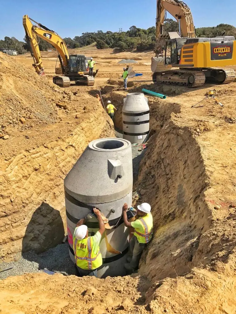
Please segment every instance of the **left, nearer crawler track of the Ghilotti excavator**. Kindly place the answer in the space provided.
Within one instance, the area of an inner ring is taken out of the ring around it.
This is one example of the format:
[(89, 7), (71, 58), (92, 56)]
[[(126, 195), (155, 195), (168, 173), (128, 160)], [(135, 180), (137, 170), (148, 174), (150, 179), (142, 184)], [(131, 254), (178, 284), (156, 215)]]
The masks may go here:
[(153, 82), (193, 88), (205, 84), (205, 74), (203, 71), (183, 69), (166, 71), (165, 73), (155, 72), (153, 73)]

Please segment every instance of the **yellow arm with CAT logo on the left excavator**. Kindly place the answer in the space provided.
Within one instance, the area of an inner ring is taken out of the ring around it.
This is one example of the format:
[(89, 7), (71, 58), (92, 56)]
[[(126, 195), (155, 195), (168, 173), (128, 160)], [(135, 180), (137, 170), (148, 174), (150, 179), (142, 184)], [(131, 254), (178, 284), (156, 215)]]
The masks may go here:
[[(31, 21), (36, 23), (36, 25), (32, 24)], [(38, 37), (40, 37), (51, 44), (58, 51), (61, 68), (63, 73), (65, 73), (65, 67), (68, 67), (69, 65), (69, 51), (66, 47), (65, 41), (53, 30), (49, 30), (46, 26), (37, 23), (29, 18), (28, 15), (23, 16), (23, 26), (25, 29), (26, 40), (31, 49), (31, 56), (34, 59), (33, 67), (36, 72), (38, 74), (44, 73), (42, 57), (38, 46)]]

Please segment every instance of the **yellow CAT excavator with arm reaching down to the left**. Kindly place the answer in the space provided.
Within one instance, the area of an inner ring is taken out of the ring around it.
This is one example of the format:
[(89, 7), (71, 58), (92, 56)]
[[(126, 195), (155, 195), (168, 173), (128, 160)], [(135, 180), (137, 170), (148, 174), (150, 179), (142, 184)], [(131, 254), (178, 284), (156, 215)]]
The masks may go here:
[[(32, 22), (36, 25), (32, 24)], [(62, 74), (63, 76), (54, 76), (54, 84), (59, 85), (60, 87), (69, 87), (70, 82), (74, 81), (87, 86), (94, 85), (94, 77), (98, 73), (98, 70), (96, 70), (96, 64), (94, 64), (93, 76), (88, 75), (88, 60), (91, 58), (85, 57), (84, 55), (70, 55), (65, 41), (56, 32), (37, 23), (29, 18), (28, 15), (23, 16), (23, 26), (27, 43), (30, 46), (31, 56), (34, 60), (33, 67), (38, 74), (44, 74), (42, 57), (38, 46), (38, 39), (42, 38), (58, 51), (60, 67), (55, 68), (55, 73)]]

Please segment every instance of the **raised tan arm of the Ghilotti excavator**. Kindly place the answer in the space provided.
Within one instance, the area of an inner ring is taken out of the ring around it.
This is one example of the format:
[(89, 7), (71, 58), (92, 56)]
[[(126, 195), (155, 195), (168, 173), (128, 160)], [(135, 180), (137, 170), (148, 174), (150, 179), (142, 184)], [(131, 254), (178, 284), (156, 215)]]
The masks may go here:
[(166, 11), (179, 23), (182, 37), (196, 37), (193, 16), (186, 3), (179, 0), (157, 0), (156, 46), (159, 44), (161, 35), (164, 34)]

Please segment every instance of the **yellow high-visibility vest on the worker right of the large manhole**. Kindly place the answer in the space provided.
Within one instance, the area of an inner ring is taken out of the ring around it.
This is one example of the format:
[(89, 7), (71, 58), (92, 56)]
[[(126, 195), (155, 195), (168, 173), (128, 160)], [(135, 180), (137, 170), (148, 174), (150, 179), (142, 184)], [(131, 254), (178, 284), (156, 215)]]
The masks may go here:
[(134, 229), (134, 236), (137, 237), (139, 243), (148, 243), (152, 238), (153, 221), (152, 214), (148, 213), (144, 217), (138, 219), (143, 225), (144, 231), (141, 228)]

